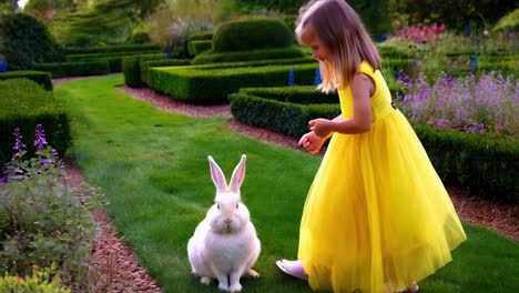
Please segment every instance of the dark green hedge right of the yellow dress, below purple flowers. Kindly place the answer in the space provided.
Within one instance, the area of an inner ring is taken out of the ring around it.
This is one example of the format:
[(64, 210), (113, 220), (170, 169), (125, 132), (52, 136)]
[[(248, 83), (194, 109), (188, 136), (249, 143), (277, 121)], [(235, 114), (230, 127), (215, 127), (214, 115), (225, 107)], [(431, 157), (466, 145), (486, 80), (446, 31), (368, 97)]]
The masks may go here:
[(465, 186), (475, 196), (519, 202), (517, 141), (424, 124), (413, 128), (445, 182)]

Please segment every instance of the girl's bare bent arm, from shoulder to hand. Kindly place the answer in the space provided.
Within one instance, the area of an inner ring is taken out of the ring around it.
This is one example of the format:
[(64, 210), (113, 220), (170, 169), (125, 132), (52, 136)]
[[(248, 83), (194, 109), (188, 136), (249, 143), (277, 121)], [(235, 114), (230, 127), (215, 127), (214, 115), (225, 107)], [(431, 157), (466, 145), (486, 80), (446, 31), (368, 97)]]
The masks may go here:
[(375, 83), (368, 75), (357, 73), (350, 82), (350, 88), (354, 102), (353, 118), (343, 119), (339, 115), (334, 120), (322, 118), (312, 120), (308, 125), (317, 135), (326, 138), (332, 132), (356, 134), (369, 130), (373, 122), (369, 97), (375, 92)]

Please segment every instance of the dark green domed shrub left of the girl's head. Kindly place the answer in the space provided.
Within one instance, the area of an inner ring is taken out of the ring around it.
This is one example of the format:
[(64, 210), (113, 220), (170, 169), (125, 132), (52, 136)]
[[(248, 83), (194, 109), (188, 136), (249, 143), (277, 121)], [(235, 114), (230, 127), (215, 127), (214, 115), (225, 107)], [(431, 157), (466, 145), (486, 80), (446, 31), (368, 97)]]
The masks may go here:
[(214, 34), (214, 52), (288, 48), (294, 34), (279, 19), (240, 20), (222, 24)]

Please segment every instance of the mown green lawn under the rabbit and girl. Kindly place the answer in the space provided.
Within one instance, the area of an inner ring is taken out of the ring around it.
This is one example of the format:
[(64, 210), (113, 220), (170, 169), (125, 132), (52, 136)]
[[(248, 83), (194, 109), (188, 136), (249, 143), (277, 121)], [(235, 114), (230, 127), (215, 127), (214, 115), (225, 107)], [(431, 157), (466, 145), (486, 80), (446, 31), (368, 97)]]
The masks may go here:
[[(243, 199), (262, 241), (260, 280), (244, 292), (312, 292), (283, 275), (279, 257), (295, 257), (299, 218), (319, 158), (228, 130), (223, 118), (172, 114), (114, 89), (121, 75), (90, 78), (54, 89), (72, 113), (69, 153), (85, 180), (102, 188), (124, 241), (164, 292), (218, 292), (190, 274), (186, 244), (214, 198), (206, 156), (227, 176), (247, 154)], [(492, 231), (465, 224), (468, 241), (454, 261), (420, 282), (420, 292), (519, 292), (519, 247)]]

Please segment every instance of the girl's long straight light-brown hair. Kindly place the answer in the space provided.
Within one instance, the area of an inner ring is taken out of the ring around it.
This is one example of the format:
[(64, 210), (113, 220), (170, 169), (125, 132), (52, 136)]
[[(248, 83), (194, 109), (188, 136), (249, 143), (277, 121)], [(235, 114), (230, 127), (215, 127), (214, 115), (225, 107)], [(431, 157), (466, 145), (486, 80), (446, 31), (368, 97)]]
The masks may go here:
[(358, 14), (345, 0), (312, 0), (299, 10), (295, 34), (313, 33), (334, 57), (319, 61), (323, 82), (317, 89), (330, 92), (349, 85), (360, 62), (380, 69), (380, 57)]

